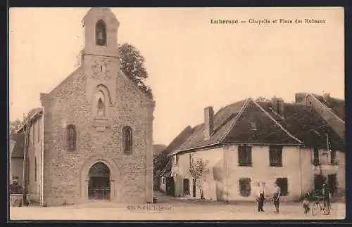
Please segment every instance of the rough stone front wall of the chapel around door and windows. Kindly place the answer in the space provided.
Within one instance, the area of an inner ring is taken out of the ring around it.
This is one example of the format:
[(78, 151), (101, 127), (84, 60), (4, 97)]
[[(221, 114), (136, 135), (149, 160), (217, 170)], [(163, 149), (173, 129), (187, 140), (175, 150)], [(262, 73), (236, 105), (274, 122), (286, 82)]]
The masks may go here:
[[(89, 67), (85, 65), (84, 67)], [(87, 200), (84, 188), (87, 179), (82, 172), (91, 157), (96, 161), (109, 157), (118, 173), (111, 179), (111, 192), (118, 202), (149, 202), (152, 200), (152, 120), (154, 103), (121, 72), (115, 73), (115, 102), (108, 103), (108, 118), (98, 130), (94, 121), (93, 97), (87, 86), (96, 83), (88, 79), (84, 67), (49, 94), (42, 94), (44, 107), (44, 204), (62, 205)], [(98, 84), (104, 84), (101, 80)], [(109, 86), (111, 87), (111, 86)], [(77, 149), (68, 151), (65, 129), (74, 124)], [(122, 128), (133, 131), (131, 155), (122, 150)], [(108, 160), (105, 160), (108, 161)], [(93, 163), (94, 164), (94, 163)], [(89, 168), (88, 168), (89, 169)], [(82, 190), (83, 188), (83, 190)]]

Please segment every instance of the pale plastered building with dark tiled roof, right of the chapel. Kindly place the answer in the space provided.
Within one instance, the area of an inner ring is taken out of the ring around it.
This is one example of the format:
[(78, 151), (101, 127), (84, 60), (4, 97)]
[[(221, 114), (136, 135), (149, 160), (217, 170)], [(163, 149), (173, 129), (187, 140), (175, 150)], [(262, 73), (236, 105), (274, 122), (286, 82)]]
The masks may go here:
[(332, 108), (302, 94), (295, 103), (248, 98), (215, 114), (205, 108), (204, 122), (171, 154), (173, 195), (200, 197), (199, 183), (189, 173), (196, 160), (207, 163), (201, 188), (209, 200), (253, 201), (259, 182), (267, 193), (276, 182), (283, 201), (297, 200), (320, 188), (322, 176), (334, 196), (344, 195), (346, 143), (339, 117), (344, 100), (331, 102)]

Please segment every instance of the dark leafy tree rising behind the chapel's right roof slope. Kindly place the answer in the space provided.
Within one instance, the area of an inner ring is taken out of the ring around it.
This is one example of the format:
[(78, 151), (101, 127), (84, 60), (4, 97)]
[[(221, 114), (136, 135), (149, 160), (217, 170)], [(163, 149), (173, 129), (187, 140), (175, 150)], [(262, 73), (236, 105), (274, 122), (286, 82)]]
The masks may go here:
[(141, 91), (152, 98), (153, 94), (151, 93), (151, 88), (145, 84), (145, 79), (148, 78), (148, 72), (146, 72), (146, 68), (144, 67), (144, 57), (135, 46), (127, 43), (119, 45), (118, 52), (122, 72), (125, 73)]

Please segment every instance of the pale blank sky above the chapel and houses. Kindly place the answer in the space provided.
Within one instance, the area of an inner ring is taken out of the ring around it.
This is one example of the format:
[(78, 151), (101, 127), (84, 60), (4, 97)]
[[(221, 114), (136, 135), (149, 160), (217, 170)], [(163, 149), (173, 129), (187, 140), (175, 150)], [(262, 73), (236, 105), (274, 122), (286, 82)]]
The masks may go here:
[[(77, 67), (89, 8), (11, 8), (9, 117), (40, 106)], [(146, 58), (156, 100), (153, 141), (168, 145), (203, 109), (297, 92), (344, 98), (343, 8), (112, 8), (118, 43)], [(292, 20), (292, 24), (249, 20)], [(305, 19), (325, 23), (305, 23)], [(215, 24), (211, 20), (244, 20)], [(303, 23), (294, 23), (301, 19)]]

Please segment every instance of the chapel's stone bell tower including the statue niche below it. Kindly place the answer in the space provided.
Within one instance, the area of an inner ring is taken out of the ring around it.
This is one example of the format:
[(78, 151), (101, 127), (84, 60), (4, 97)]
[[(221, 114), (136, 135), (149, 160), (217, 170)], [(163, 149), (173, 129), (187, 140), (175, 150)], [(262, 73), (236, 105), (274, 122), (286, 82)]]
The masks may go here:
[(99, 130), (111, 121), (116, 82), (120, 70), (118, 58), (119, 22), (110, 8), (92, 8), (83, 18), (86, 98), (92, 106), (92, 122)]

